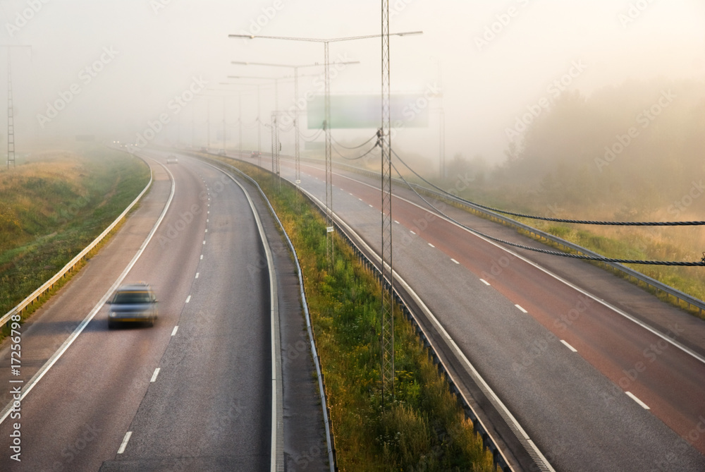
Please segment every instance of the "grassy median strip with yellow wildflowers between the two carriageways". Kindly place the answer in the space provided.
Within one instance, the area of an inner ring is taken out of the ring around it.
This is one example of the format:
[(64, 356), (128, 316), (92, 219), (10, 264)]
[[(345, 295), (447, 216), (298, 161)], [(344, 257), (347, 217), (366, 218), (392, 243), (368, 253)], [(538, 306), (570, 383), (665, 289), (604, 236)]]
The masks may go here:
[(341, 471), (490, 471), (491, 455), (398, 311), (396, 401), (381, 408), (379, 283), (337, 237), (329, 272), (320, 214), (288, 184), (276, 193), (270, 174), (236, 165), (262, 186), (298, 252)]

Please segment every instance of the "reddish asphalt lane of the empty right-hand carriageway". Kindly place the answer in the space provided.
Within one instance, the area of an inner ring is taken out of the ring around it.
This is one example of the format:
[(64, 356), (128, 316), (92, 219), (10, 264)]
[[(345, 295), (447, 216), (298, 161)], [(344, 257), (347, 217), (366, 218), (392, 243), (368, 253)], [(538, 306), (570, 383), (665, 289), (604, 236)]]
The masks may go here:
[[(325, 180), (322, 169), (307, 167), (309, 174)], [(381, 211), (379, 189), (352, 178), (333, 175), (348, 193), (361, 198)], [(423, 205), (421, 203), (421, 205)], [(631, 392), (651, 412), (705, 454), (705, 435), (692, 440), (697, 428), (705, 427), (705, 364), (673, 344), (656, 336), (616, 313), (611, 308), (585, 296), (493, 243), (470, 234), (465, 229), (435, 214), (395, 197), (394, 219), (416, 236), (432, 243), (436, 249), (460, 262), (477, 277), (486, 280), (513, 303), (517, 316), (532, 316), (548, 329), (547, 337), (563, 339), (577, 353), (566, 347), (565, 355), (580, 355), (615, 384), (605, 392), (610, 401), (620, 392)], [(422, 222), (426, 222), (426, 227)], [(678, 325), (673, 334), (677, 335)], [(540, 349), (541, 340), (537, 340)], [(691, 439), (688, 437), (691, 436)]]

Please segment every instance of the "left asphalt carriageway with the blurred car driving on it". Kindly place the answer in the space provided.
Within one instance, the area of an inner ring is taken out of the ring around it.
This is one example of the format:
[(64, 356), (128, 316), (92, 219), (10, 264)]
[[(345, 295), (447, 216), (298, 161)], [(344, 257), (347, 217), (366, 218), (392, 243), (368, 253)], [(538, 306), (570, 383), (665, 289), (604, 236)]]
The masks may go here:
[[(156, 325), (109, 330), (100, 307), (23, 399), (23, 460), (4, 454), (0, 469), (269, 470), (269, 284), (266, 271), (245, 270), (262, 258), (252, 210), (212, 167), (183, 159), (152, 169), (140, 209), (27, 323), (25, 369), (39, 368), (110, 289), (157, 221), (173, 174), (164, 221), (125, 277), (152, 284)], [(12, 423), (0, 425), (7, 450)]]

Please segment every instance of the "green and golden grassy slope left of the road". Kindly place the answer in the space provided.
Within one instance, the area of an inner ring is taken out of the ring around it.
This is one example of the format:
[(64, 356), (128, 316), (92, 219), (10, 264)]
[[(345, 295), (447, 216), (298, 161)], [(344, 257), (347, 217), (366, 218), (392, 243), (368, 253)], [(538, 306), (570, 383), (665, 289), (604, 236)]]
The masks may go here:
[(0, 315), (102, 233), (147, 181), (144, 162), (103, 147), (43, 153), (1, 170)]

